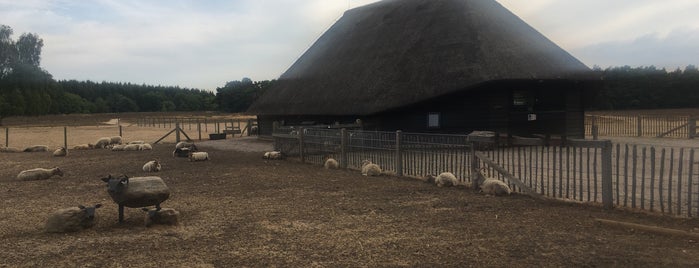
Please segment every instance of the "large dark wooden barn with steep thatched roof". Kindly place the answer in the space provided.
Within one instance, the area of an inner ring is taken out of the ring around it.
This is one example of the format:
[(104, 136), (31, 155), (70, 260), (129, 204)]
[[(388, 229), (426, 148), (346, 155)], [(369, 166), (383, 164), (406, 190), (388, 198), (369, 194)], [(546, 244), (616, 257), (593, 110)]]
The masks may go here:
[(346, 11), (248, 112), (260, 135), (361, 122), (583, 137), (591, 74), (494, 0), (384, 0)]

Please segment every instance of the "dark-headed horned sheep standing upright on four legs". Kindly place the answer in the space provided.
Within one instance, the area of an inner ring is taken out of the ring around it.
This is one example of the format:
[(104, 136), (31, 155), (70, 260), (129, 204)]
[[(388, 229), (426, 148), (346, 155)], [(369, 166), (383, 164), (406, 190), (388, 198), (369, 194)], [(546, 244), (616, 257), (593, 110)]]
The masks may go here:
[(160, 209), (160, 203), (170, 197), (170, 188), (160, 177), (133, 177), (126, 175), (102, 178), (107, 183), (109, 196), (119, 205), (119, 222), (124, 222), (124, 207), (138, 208), (155, 205)]

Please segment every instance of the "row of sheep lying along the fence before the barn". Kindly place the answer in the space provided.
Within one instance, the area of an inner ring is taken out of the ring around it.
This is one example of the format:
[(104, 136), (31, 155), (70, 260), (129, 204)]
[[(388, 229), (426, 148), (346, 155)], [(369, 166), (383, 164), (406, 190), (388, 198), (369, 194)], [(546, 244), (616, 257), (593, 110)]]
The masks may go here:
[[(279, 151), (270, 151), (265, 152), (262, 158), (272, 160), (283, 159), (284, 155)], [(326, 156), (325, 162), (323, 163), (323, 167), (326, 169), (339, 169), (340, 164), (336, 159), (332, 158), (331, 156)], [(362, 161), (361, 171), (362, 175), (364, 176), (390, 175), (390, 173), (383, 171), (378, 164), (373, 163), (368, 159)], [(494, 196), (503, 196), (512, 193), (512, 189), (505, 182), (497, 178), (485, 176), (485, 174), (483, 173), (484, 171), (484, 169), (478, 170), (474, 178), (476, 182), (475, 185), (477, 185), (476, 187), (480, 192), (486, 195)], [(450, 187), (460, 185), (459, 180), (451, 172), (442, 172), (437, 176), (427, 175), (425, 176), (424, 181), (427, 183), (434, 183), (438, 187)]]

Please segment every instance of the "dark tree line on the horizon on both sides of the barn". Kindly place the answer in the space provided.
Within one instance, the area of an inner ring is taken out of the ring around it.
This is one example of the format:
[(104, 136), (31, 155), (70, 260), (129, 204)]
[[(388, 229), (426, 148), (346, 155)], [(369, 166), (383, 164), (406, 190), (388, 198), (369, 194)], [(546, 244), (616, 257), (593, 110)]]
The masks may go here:
[[(109, 113), (221, 111), (245, 112), (275, 80), (243, 78), (226, 82), (216, 92), (176, 86), (61, 80), (41, 68), (43, 40), (33, 33), (12, 39), (12, 28), (0, 25), (0, 124), (7, 116)], [(604, 81), (590, 108), (597, 110), (696, 107), (699, 70), (666, 71), (648, 67), (593, 67)]]

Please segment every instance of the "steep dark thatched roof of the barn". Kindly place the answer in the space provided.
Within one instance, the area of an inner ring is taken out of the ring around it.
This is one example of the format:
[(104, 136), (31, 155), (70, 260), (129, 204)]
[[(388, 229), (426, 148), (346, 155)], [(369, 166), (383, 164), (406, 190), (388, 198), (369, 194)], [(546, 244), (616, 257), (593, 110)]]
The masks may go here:
[(249, 112), (368, 115), (486, 81), (589, 71), (494, 0), (384, 0), (345, 12)]

